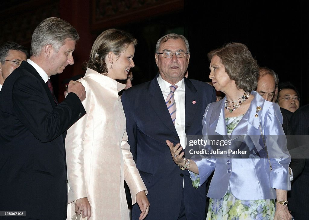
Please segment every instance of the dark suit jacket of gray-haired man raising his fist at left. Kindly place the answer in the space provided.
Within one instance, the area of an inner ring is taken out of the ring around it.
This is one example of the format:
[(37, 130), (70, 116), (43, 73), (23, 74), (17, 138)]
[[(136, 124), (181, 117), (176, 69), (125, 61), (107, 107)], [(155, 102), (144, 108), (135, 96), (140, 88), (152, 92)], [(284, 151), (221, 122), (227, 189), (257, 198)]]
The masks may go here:
[(66, 130), (86, 114), (74, 93), (56, 106), (28, 62), (0, 92), (0, 210), (26, 218), (66, 219)]

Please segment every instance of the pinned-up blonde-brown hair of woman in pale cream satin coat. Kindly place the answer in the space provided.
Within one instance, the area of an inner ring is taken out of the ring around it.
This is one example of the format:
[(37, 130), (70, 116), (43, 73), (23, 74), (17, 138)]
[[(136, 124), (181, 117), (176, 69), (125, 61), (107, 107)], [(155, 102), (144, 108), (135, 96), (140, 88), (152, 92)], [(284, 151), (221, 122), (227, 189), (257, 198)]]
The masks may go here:
[(130, 44), (135, 46), (137, 39), (128, 32), (114, 28), (103, 31), (95, 39), (89, 60), (85, 66), (106, 76), (108, 74), (108, 67), (105, 63), (105, 57), (108, 53), (113, 52), (118, 59), (120, 54), (125, 52)]

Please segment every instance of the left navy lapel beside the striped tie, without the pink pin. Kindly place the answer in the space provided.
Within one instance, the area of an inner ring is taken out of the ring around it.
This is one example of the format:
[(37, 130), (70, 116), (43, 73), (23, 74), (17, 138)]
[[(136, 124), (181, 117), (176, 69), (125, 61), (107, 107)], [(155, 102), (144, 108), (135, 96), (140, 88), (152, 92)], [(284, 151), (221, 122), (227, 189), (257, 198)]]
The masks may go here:
[(171, 120), (170, 113), (166, 107), (165, 100), (157, 78), (158, 75), (150, 82), (149, 85), (150, 106), (153, 108), (155, 114), (158, 115), (158, 118), (161, 119), (163, 124), (165, 124), (165, 126), (168, 127), (172, 132), (177, 134), (175, 126)]

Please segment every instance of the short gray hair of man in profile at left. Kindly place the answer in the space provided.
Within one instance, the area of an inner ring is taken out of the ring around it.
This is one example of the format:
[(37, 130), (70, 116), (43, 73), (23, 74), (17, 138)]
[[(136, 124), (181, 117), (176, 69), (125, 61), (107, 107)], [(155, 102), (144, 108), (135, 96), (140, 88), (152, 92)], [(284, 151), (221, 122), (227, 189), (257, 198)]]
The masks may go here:
[(32, 34), (30, 54), (39, 56), (42, 48), (47, 44), (51, 44), (55, 52), (58, 52), (67, 38), (74, 41), (79, 39), (76, 29), (70, 23), (60, 18), (44, 19)]

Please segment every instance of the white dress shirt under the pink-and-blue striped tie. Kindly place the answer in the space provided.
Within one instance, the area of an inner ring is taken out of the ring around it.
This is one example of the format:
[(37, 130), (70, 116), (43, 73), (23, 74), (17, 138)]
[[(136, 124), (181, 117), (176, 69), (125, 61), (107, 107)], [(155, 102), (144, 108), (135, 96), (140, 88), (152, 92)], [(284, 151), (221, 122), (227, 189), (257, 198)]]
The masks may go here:
[[(162, 91), (164, 100), (166, 100), (168, 94), (171, 92), (171, 84), (165, 81), (161, 75), (158, 77), (158, 83)], [(174, 92), (174, 98), (176, 102), (176, 120), (175, 128), (179, 136), (179, 141), (181, 147), (186, 147), (186, 131), (184, 130), (184, 118), (185, 118), (185, 93), (184, 93), (184, 79), (177, 82), (175, 85), (178, 85), (178, 88)]]

